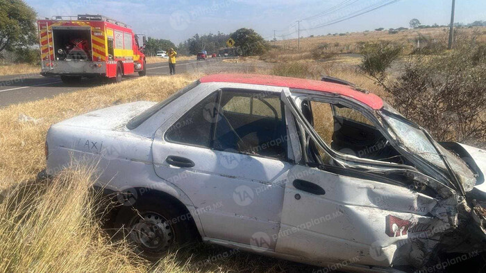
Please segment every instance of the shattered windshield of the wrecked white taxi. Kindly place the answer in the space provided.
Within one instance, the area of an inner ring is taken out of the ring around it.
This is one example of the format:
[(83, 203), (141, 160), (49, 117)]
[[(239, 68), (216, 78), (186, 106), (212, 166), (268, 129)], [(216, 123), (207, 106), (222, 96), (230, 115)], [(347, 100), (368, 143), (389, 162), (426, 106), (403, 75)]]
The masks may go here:
[(390, 127), (389, 129), (394, 132), (405, 150), (446, 172), (446, 165), (437, 153), (437, 150), (435, 150), (435, 144), (446, 157), (452, 170), (459, 176), (460, 182), (464, 186), (464, 191), (471, 191), (476, 184), (476, 177), (474, 177), (474, 173), (460, 157), (453, 155), (439, 143), (430, 143), (426, 134), (418, 127), (412, 125), (412, 123), (406, 122), (405, 118), (396, 118), (386, 112), (381, 112), (381, 114), (385, 118), (385, 121), (387, 121)]

